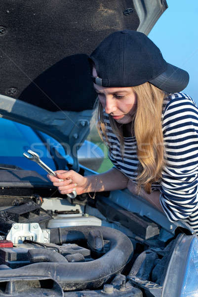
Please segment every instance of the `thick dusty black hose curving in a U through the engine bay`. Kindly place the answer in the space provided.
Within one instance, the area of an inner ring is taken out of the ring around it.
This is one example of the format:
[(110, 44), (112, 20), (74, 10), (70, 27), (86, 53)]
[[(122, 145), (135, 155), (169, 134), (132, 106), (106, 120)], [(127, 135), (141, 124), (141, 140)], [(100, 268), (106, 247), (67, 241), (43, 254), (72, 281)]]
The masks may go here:
[[(111, 241), (110, 250), (102, 257), (88, 262), (35, 263), (28, 266), (0, 271), (0, 281), (29, 276), (50, 276), (63, 290), (83, 290), (100, 287), (121, 272), (133, 252), (129, 238), (122, 232), (102, 226), (52, 228), (51, 242), (63, 244), (86, 240), (91, 230), (100, 230), (104, 240)], [(45, 250), (46, 251), (46, 250)]]

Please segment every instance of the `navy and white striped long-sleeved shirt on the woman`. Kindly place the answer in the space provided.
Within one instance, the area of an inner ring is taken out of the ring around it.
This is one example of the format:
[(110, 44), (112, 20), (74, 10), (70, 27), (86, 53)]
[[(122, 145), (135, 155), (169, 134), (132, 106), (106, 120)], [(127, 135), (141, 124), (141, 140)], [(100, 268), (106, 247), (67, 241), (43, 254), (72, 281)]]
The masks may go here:
[[(198, 107), (183, 93), (170, 94), (163, 102), (162, 131), (166, 164), (162, 178), (152, 184), (170, 222), (184, 219), (198, 233)], [(111, 143), (109, 158), (117, 169), (136, 182), (139, 160), (135, 136), (124, 137), (123, 158), (119, 139), (105, 114)]]

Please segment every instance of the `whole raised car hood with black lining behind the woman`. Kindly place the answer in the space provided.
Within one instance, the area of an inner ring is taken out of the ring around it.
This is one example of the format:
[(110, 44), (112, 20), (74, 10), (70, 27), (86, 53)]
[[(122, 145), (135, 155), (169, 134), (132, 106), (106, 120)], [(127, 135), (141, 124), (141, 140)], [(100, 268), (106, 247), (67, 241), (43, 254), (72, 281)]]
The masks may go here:
[[(110, 33), (148, 34), (165, 0), (2, 0), (0, 114), (63, 144), (78, 170), (96, 98), (88, 54)], [(64, 145), (65, 144), (65, 145)]]

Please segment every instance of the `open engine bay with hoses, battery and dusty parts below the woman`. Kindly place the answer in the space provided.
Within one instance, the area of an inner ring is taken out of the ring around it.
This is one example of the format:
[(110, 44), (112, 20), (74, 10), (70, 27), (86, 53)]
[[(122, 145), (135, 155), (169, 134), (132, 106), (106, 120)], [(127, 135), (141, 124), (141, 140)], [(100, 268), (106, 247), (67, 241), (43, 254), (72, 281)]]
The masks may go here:
[(105, 193), (1, 196), (0, 296), (158, 296), (174, 246), (160, 229)]

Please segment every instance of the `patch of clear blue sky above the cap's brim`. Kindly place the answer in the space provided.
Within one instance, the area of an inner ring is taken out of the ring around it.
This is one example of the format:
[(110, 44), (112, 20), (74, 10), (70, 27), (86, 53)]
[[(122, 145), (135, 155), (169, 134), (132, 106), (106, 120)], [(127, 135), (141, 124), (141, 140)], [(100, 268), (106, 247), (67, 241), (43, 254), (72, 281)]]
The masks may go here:
[(149, 38), (168, 63), (189, 72), (189, 85), (183, 92), (198, 104), (198, 0), (166, 1), (168, 8)]

